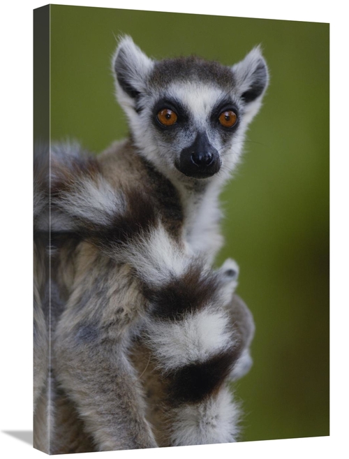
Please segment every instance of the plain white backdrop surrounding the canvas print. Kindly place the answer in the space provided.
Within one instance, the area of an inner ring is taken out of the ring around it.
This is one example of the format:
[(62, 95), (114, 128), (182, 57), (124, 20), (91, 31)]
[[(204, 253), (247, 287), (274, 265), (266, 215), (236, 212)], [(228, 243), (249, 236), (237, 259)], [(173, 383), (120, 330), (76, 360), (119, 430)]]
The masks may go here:
[[(64, 1), (67, 5), (329, 22), (331, 24), (331, 435), (310, 439), (80, 454), (80, 458), (184, 458), (196, 454), (254, 458), (341, 458), (348, 454), (348, 13), (334, 0), (213, 2)], [(57, 2), (60, 3), (61, 2)], [(32, 430), (32, 17), (45, 3), (1, 5), (1, 300), (0, 454), (43, 453), (7, 432)], [(146, 5), (146, 6), (145, 6)], [(304, 75), (306, 78), (306, 75)], [(316, 317), (314, 317), (314, 321)], [(267, 402), (267, 400), (266, 400)], [(66, 455), (64, 457), (74, 457)]]

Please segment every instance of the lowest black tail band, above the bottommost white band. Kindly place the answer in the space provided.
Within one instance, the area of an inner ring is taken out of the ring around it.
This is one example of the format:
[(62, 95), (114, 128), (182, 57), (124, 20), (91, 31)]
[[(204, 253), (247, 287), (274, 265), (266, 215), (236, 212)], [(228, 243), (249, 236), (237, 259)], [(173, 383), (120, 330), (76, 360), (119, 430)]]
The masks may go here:
[(228, 377), (236, 358), (235, 350), (230, 349), (206, 362), (193, 363), (169, 374), (171, 405), (199, 403), (216, 393)]

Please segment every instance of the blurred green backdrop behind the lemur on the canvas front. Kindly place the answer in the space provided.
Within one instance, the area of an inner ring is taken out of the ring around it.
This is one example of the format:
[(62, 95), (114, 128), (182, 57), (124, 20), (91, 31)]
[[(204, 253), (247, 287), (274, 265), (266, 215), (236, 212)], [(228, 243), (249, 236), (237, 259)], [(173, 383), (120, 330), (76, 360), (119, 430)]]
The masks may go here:
[(99, 152), (127, 135), (114, 101), (115, 37), (149, 56), (234, 64), (258, 43), (270, 69), (244, 162), (225, 188), (226, 244), (255, 317), (235, 384), (243, 440), (329, 435), (329, 24), (51, 7), (51, 138)]

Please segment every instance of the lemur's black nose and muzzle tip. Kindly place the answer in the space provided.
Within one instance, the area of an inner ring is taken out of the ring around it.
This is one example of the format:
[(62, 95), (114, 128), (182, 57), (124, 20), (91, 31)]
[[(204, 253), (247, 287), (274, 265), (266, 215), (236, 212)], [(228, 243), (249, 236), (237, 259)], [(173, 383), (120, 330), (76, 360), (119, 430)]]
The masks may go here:
[(188, 177), (207, 178), (221, 168), (221, 159), (207, 134), (199, 133), (192, 145), (181, 150), (176, 167)]

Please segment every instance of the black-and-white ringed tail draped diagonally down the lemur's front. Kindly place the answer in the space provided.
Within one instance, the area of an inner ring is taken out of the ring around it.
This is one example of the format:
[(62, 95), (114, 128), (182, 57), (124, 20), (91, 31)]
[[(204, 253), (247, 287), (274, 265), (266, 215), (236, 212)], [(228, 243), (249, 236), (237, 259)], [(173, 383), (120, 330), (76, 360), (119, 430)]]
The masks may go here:
[(53, 231), (76, 233), (117, 263), (131, 265), (148, 303), (142, 339), (165, 384), (170, 444), (235, 441), (239, 408), (228, 381), (235, 368), (248, 367), (244, 351), (253, 334), (249, 326), (247, 339), (232, 321), (237, 265), (211, 270), (166, 231), (142, 189), (113, 189), (95, 159), (63, 157), (56, 147)]

